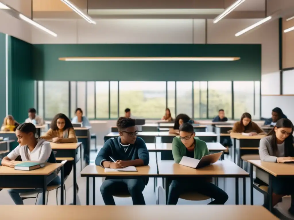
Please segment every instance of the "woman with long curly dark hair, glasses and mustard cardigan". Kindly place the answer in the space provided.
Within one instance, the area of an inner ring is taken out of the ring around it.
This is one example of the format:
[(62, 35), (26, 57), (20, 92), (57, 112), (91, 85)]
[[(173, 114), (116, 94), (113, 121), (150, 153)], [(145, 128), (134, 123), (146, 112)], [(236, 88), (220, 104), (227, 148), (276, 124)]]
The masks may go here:
[[(54, 116), (51, 128), (41, 138), (54, 143), (77, 143), (76, 133), (71, 121), (65, 114), (59, 113)], [(67, 161), (64, 164), (64, 177), (67, 177), (72, 170), (74, 161)], [(78, 190), (78, 185), (77, 185)]]

